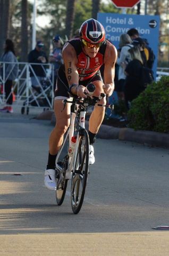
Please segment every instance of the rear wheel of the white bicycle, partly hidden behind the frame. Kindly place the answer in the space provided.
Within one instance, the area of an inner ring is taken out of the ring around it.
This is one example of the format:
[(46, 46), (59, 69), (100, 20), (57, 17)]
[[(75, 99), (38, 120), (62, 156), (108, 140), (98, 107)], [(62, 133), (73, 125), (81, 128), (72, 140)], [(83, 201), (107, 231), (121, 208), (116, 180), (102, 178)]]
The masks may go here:
[[(64, 135), (64, 138), (66, 136), (67, 132)], [(68, 138), (67, 138), (67, 143)], [(67, 147), (69, 145), (65, 145), (65, 153), (67, 153)], [(62, 148), (64, 151), (64, 148)], [(60, 153), (60, 151), (59, 151)], [(57, 170), (57, 176), (56, 176), (56, 202), (57, 205), (62, 205), (66, 193), (67, 188), (67, 179), (65, 179), (66, 170), (67, 170), (67, 163), (69, 160), (69, 156), (65, 155), (63, 158), (60, 159), (60, 162), (57, 163), (57, 166), (60, 165), (60, 168)]]

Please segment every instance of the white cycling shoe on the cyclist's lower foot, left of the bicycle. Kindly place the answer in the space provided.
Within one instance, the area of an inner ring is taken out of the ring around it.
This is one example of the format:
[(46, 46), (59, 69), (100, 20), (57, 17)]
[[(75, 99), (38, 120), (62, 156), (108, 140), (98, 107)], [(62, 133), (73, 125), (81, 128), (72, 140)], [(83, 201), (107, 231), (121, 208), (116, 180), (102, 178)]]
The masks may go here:
[(53, 169), (45, 170), (44, 184), (48, 189), (56, 190), (55, 170)]

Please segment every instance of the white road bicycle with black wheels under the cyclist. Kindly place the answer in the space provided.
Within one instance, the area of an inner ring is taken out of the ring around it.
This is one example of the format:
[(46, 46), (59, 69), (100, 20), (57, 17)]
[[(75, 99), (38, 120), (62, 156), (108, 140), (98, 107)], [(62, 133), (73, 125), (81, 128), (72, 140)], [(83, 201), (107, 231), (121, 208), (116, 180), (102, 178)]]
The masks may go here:
[[(87, 86), (89, 92), (94, 92), (95, 85)], [(74, 214), (79, 213), (85, 196), (87, 179), (89, 174), (89, 135), (85, 129), (85, 117), (89, 106), (112, 105), (99, 104), (99, 100), (106, 94), (101, 93), (100, 97), (70, 98), (63, 100), (71, 103), (71, 122), (67, 129), (63, 144), (56, 157), (56, 202), (61, 205), (64, 201), (67, 181), (71, 179), (71, 206)], [(76, 138), (73, 154), (70, 156), (69, 149), (72, 137)]]

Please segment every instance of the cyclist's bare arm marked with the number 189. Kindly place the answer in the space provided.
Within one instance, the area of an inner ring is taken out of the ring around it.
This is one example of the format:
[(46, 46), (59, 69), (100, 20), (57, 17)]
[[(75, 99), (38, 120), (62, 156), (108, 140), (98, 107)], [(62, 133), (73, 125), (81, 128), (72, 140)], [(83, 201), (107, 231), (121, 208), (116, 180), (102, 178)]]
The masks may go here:
[[(71, 86), (71, 92), (79, 97), (86, 98), (84, 91), (88, 92), (85, 86), (79, 85), (79, 74), (76, 67), (77, 53), (74, 47), (70, 43), (66, 43), (62, 51), (63, 62), (65, 65), (65, 74), (69, 86)], [(72, 86), (73, 85), (73, 86)]]

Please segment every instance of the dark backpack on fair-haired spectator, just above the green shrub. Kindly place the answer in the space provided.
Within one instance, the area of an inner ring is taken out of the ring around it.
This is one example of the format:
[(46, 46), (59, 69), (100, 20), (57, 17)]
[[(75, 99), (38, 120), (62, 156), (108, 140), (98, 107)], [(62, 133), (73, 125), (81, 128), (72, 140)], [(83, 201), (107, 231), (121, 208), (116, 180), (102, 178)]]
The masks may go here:
[(147, 87), (148, 84), (151, 84), (154, 81), (153, 71), (147, 67), (142, 66), (140, 78), (141, 87)]

